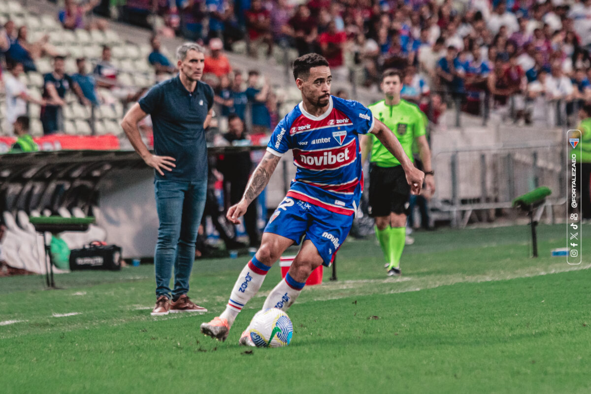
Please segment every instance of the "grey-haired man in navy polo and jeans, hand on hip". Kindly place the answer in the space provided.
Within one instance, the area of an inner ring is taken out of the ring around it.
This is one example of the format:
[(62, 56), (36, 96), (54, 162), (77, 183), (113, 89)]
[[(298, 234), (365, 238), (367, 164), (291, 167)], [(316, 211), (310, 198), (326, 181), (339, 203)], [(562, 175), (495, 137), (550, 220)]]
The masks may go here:
[[(154, 254), (156, 305), (152, 315), (207, 311), (187, 297), (207, 193), (204, 129), (212, 117), (213, 90), (200, 82), (203, 66), (203, 47), (194, 43), (178, 47), (178, 75), (152, 87), (121, 122), (135, 151), (155, 170), (160, 225)], [(154, 154), (148, 151), (138, 130), (138, 122), (148, 114), (154, 127)]]

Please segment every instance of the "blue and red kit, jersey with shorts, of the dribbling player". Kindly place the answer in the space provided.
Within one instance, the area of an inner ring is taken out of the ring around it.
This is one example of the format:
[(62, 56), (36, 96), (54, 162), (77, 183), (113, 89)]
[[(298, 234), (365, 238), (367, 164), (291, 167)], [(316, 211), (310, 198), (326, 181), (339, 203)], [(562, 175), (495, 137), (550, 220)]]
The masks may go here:
[(302, 103), (291, 110), (275, 128), (267, 151), (281, 156), (292, 149), (296, 177), (265, 232), (296, 243), (306, 235), (329, 265), (349, 233), (363, 191), (358, 134), (373, 128), (371, 110), (339, 97), (330, 96), (320, 116), (307, 113)]

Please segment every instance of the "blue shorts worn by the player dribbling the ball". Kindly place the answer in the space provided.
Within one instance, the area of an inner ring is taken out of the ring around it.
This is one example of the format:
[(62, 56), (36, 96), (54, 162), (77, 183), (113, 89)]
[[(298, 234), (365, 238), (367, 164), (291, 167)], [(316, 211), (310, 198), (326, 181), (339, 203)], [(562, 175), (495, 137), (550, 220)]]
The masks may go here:
[(265, 233), (273, 233), (300, 245), (305, 239), (316, 246), (323, 264), (330, 266), (353, 225), (353, 216), (331, 212), (293, 197), (285, 197), (272, 214)]

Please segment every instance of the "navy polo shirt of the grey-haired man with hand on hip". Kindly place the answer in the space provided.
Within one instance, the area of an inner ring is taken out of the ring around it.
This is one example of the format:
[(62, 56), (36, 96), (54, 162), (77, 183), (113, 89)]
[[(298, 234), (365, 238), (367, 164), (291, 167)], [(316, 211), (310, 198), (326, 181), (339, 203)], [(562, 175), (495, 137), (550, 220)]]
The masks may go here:
[(189, 92), (178, 76), (152, 87), (139, 99), (141, 109), (152, 117), (154, 153), (174, 157), (176, 167), (155, 171), (157, 180), (206, 181), (207, 146), (203, 122), (213, 106), (213, 90), (197, 81)]

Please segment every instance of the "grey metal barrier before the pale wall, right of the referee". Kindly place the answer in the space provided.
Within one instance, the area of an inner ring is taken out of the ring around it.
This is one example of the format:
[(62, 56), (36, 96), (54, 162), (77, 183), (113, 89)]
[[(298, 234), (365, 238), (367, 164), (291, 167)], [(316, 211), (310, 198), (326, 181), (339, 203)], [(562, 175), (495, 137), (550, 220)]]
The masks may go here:
[(566, 151), (555, 142), (451, 149), (437, 152), (434, 162), (431, 205), (448, 212), (454, 227), (466, 226), (475, 210), (510, 208), (515, 197), (538, 186), (552, 191), (547, 205), (566, 202)]

